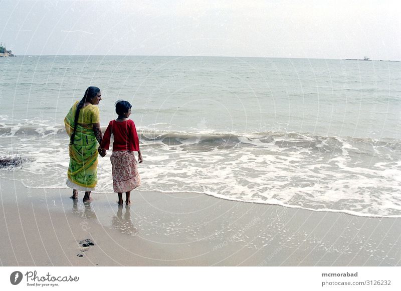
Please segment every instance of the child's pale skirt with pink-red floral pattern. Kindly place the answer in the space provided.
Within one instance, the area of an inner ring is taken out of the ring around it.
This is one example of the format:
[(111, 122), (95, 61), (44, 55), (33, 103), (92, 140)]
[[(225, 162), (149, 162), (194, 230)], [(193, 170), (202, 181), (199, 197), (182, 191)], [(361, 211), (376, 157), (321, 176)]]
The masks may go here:
[(114, 192), (128, 192), (141, 184), (134, 151), (113, 151), (110, 161)]

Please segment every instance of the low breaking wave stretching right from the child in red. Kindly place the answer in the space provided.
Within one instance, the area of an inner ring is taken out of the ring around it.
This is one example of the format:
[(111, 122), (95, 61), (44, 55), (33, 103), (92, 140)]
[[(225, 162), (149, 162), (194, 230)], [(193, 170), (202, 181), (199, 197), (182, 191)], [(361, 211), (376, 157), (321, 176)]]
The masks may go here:
[(310, 149), (320, 152), (342, 152), (350, 150), (359, 154), (373, 154), (375, 149), (401, 152), (401, 140), (383, 138), (359, 138), (321, 136), (297, 132), (216, 132), (216, 131), (161, 131), (138, 130), (140, 140), (147, 145), (163, 144), (181, 148), (197, 148), (204, 150), (229, 149), (240, 147), (264, 147), (272, 145), (283, 150)]

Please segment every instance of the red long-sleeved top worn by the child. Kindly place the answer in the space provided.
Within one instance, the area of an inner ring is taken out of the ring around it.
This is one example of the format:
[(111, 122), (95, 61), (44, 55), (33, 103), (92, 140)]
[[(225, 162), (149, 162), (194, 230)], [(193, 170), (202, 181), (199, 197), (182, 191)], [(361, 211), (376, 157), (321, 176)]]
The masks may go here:
[(135, 123), (131, 119), (122, 122), (111, 120), (104, 132), (100, 148), (109, 149), (111, 133), (114, 137), (113, 151), (139, 150), (138, 134), (136, 133)]

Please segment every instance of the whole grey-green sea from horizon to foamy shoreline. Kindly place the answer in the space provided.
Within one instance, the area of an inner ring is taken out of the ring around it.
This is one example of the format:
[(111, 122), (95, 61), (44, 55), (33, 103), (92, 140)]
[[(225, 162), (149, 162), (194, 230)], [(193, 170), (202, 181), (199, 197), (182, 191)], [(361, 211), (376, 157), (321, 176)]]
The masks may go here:
[[(101, 89), (132, 104), (137, 191), (401, 217), (401, 62), (222, 56), (0, 58), (0, 177), (67, 188), (63, 119)], [(94, 195), (113, 192), (111, 151)], [(135, 190), (136, 191), (136, 190)], [(69, 192), (69, 191), (68, 191)]]

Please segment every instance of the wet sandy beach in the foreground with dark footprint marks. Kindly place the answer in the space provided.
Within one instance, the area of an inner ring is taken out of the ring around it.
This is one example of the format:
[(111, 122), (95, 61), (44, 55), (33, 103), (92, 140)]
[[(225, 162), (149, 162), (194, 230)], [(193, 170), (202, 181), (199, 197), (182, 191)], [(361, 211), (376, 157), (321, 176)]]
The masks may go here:
[[(353, 216), (205, 194), (93, 193), (0, 179), (3, 266), (397, 266), (399, 218)], [(95, 245), (83, 247), (81, 240)], [(82, 255), (82, 256), (81, 256)]]

